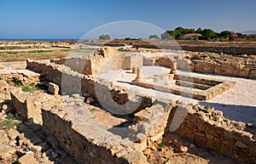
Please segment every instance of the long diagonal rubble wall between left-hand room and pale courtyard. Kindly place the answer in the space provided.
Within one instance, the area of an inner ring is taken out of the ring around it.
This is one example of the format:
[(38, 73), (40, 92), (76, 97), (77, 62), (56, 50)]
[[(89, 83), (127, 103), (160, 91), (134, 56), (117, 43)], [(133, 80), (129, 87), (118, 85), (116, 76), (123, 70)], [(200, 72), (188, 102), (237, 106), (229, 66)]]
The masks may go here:
[[(82, 75), (63, 65), (55, 65), (53, 63), (45, 64), (41, 61), (28, 59), (27, 67), (35, 71), (44, 71), (49, 82), (54, 82), (62, 88), (62, 94), (71, 95), (73, 93), (79, 93), (82, 95), (84, 93), (90, 93), (92, 97), (100, 100), (102, 104), (113, 108), (113, 110), (118, 110), (120, 105), (124, 105), (129, 100), (128, 90), (126, 88), (114, 86), (106, 80), (96, 79), (91, 75)], [(63, 78), (65, 82), (61, 82)], [(129, 111), (132, 110), (132, 113), (135, 113), (154, 103), (154, 99), (150, 96), (137, 96), (137, 94), (138, 93), (132, 93), (135, 100), (123, 107), (125, 112), (130, 113)], [(138, 105), (138, 103), (140, 104)], [(134, 110), (134, 106), (137, 107), (137, 110)]]

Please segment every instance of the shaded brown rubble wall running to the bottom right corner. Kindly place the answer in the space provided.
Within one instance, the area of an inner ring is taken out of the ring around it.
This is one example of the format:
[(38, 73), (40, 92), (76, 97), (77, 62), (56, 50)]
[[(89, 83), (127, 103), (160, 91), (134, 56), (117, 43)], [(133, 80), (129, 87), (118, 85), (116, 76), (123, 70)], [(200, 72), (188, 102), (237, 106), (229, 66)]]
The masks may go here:
[[(175, 123), (187, 113), (182, 124), (175, 130)], [(224, 118), (222, 111), (202, 105), (183, 105), (174, 108), (169, 117), (165, 136), (173, 130), (188, 139), (194, 139), (226, 156), (248, 163), (256, 162), (255, 127), (243, 122)]]

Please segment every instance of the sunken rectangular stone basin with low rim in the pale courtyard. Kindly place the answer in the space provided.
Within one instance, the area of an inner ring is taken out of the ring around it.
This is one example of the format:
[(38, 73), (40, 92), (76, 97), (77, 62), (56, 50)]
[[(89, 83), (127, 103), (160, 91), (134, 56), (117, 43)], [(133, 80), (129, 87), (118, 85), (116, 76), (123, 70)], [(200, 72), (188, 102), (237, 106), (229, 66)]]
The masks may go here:
[[(218, 94), (224, 93), (224, 91), (233, 88), (236, 84), (236, 82), (218, 81), (214, 79), (182, 76), (177, 74), (160, 75), (158, 78), (152, 77), (154, 82), (149, 82), (149, 78), (134, 80), (131, 83), (143, 88), (152, 88), (161, 92), (179, 94), (199, 100), (212, 99)], [(189, 88), (196, 88), (197, 90), (193, 91)]]

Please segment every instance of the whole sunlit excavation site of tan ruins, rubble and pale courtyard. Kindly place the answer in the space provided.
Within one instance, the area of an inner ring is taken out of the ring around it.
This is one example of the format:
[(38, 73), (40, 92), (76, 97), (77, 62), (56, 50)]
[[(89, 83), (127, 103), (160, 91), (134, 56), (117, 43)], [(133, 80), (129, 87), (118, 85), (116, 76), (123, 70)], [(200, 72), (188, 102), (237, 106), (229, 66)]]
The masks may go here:
[(253, 55), (73, 52), (0, 71), (1, 163), (256, 162)]

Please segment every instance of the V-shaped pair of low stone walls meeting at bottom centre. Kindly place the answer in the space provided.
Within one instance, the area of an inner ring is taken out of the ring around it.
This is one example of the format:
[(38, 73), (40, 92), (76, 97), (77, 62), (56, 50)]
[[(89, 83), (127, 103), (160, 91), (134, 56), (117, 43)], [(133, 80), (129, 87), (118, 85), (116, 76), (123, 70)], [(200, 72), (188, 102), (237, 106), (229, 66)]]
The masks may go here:
[[(142, 110), (137, 113), (136, 124), (119, 129), (95, 122), (88, 109), (73, 105), (79, 98), (64, 99), (67, 110), (60, 106), (42, 110), (43, 128), (54, 135), (78, 163), (148, 163), (143, 150), (161, 139), (174, 105), (168, 100), (157, 101), (146, 109), (145, 112), (151, 111), (150, 114), (143, 116)], [(79, 115), (73, 117), (77, 112)]]

